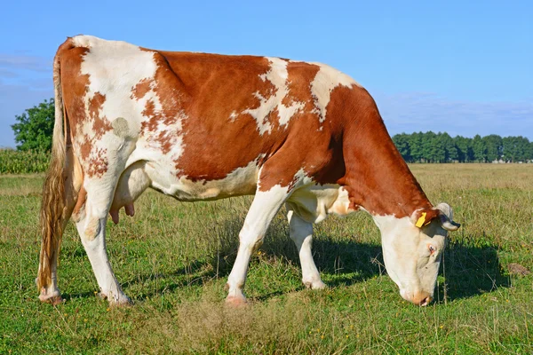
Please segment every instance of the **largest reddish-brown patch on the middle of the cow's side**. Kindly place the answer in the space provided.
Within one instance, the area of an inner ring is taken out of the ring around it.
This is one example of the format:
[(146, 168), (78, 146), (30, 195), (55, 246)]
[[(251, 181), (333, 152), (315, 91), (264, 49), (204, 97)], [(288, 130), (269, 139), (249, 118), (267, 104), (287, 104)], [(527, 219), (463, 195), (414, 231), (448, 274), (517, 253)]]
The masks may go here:
[(187, 176), (193, 181), (222, 179), (247, 166), (259, 154), (273, 154), (279, 148), (286, 133), (279, 129), (277, 110), (273, 107), (264, 117), (272, 130), (262, 136), (255, 119), (244, 112), (258, 108), (262, 99), (276, 92), (273, 83), (260, 77), (270, 70), (267, 59), (161, 53), (172, 70), (158, 69), (158, 94), (160, 87), (176, 83), (179, 77), (194, 98), (187, 98), (184, 105), (184, 153), (175, 162), (179, 177)]

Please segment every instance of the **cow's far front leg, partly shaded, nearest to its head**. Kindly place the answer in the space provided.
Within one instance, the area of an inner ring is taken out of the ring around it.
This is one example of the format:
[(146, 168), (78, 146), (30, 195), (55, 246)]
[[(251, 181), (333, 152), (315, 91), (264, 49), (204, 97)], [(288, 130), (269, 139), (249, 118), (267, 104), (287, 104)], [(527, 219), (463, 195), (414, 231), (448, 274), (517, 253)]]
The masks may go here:
[(300, 264), (302, 266), (302, 282), (306, 288), (322, 289), (326, 285), (320, 278), (320, 273), (313, 260), (313, 224), (307, 222), (291, 209), (290, 202), (287, 203), (287, 218), (289, 219), (290, 239), (298, 248)]

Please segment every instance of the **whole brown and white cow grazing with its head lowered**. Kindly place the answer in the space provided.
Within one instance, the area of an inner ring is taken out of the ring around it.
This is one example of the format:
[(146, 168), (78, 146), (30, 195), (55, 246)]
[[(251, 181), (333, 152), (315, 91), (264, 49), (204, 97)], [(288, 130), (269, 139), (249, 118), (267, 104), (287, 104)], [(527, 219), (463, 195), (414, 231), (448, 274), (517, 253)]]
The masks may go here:
[[(255, 194), (227, 280), (243, 303), (251, 253), (283, 204), (308, 288), (324, 288), (313, 224), (363, 209), (378, 225), (401, 295), (428, 304), (447, 231), (389, 137), (370, 94), (348, 75), (288, 59), (153, 51), (75, 36), (54, 59), (55, 127), (44, 183), (39, 298), (60, 302), (57, 261), (76, 223), (102, 296), (129, 303), (107, 260), (107, 215), (134, 213), (147, 187), (179, 201)], [(356, 256), (354, 256), (356, 257)]]

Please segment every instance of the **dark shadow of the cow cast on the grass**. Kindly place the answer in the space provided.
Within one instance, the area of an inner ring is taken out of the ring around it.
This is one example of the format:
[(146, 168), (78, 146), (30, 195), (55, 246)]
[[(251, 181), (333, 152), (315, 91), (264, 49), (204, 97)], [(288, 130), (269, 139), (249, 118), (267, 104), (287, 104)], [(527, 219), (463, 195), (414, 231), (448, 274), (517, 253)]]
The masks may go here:
[[(226, 278), (235, 261), (238, 237), (235, 225), (242, 220), (227, 220), (222, 229), (228, 231), (226, 237), (219, 238), (218, 248), (203, 262), (192, 262), (174, 272), (165, 274), (138, 275), (123, 283), (127, 292), (132, 284), (149, 282), (155, 278), (165, 278), (160, 288), (150, 288), (137, 296), (139, 300), (155, 296), (164, 291), (172, 291), (191, 285), (202, 285), (205, 280)], [(299, 266), (298, 251), (290, 241), (288, 225), (274, 223), (270, 226), (260, 250), (270, 258), (281, 263)], [(314, 261), (331, 288), (353, 285), (375, 276), (386, 274), (381, 246), (358, 241), (333, 241), (328, 235), (318, 235), (313, 242)], [(253, 266), (252, 266), (253, 267)], [(459, 298), (487, 293), (500, 287), (510, 287), (511, 280), (502, 272), (497, 249), (492, 247), (470, 247), (452, 243), (446, 249), (441, 264), (440, 282), (435, 290), (437, 302), (452, 301)], [(303, 288), (303, 286), (302, 286)], [(259, 296), (267, 299), (280, 293)]]

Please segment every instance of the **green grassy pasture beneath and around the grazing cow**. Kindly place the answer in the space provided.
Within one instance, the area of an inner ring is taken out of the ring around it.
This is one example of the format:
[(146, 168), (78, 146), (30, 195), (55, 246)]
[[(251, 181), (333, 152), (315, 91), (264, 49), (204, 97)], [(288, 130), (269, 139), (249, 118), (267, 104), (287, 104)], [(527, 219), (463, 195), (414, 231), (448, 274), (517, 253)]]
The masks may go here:
[[(533, 353), (533, 164), (411, 165), (453, 233), (435, 292), (402, 301), (365, 213), (315, 226), (330, 288), (300, 282), (282, 213), (253, 256), (250, 304), (224, 304), (251, 198), (184, 203), (155, 192), (109, 222), (111, 264), (134, 305), (108, 308), (72, 224), (60, 254), (66, 302), (40, 304), (34, 283), (43, 177), (0, 176), (0, 353)], [(521, 269), (521, 266), (527, 270)]]

